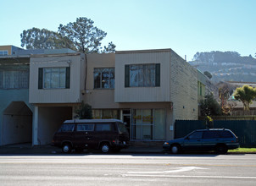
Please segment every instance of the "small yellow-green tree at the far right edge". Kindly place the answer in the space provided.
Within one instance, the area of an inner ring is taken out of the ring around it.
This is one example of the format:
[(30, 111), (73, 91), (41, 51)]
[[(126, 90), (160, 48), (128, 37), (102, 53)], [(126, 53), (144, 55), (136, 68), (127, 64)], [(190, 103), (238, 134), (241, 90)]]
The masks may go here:
[(256, 88), (253, 89), (253, 87), (249, 85), (238, 87), (235, 91), (234, 97), (236, 100), (242, 101), (243, 109), (245, 111), (249, 111), (249, 106), (253, 103), (253, 100), (256, 97)]

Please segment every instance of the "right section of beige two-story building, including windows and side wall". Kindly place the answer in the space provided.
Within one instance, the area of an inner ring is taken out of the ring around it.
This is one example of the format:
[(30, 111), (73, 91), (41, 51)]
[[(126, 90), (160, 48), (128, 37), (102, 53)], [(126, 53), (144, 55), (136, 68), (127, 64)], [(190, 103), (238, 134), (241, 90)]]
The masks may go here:
[(198, 72), (171, 49), (87, 55), (83, 100), (94, 118), (120, 118), (131, 140), (172, 139), (175, 119), (198, 119)]

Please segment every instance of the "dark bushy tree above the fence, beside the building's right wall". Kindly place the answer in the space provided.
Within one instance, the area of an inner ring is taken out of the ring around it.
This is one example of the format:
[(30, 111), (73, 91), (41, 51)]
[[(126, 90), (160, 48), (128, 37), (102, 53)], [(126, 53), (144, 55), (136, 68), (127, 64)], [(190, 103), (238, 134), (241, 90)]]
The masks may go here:
[(220, 105), (212, 93), (204, 96), (204, 99), (200, 101), (200, 112), (203, 117), (221, 115)]

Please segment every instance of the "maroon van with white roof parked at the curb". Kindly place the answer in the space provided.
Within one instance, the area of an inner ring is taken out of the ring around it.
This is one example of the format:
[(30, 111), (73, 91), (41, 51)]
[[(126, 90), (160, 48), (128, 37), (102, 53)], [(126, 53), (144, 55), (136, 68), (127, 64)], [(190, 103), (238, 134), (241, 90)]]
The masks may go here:
[(62, 148), (64, 153), (84, 149), (117, 152), (129, 146), (129, 134), (118, 119), (66, 120), (53, 135), (52, 145)]

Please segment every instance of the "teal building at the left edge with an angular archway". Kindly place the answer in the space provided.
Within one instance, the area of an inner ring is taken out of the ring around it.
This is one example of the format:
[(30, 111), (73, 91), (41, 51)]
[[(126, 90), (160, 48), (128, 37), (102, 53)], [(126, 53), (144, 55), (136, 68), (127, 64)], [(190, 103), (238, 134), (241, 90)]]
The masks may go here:
[[(33, 94), (30, 95), (29, 91), (36, 91), (34, 88), (31, 89), (30, 83), (36, 83), (38, 80), (35, 80), (35, 77), (30, 78), (30, 73), (34, 74), (34, 69), (31, 71), (31, 67), (35, 66), (31, 64), (31, 54), (72, 51), (70, 49), (24, 50), (14, 46), (1, 46), (1, 51), (8, 51), (8, 55), (0, 56), (0, 145), (32, 143), (32, 135), (36, 134), (32, 130), (32, 120), (36, 115), (33, 114), (35, 107), (29, 101), (33, 98)], [(58, 115), (56, 114), (57, 118)], [(44, 127), (42, 131), (43, 129)], [(37, 139), (34, 140), (34, 145), (38, 144), (36, 141)]]

